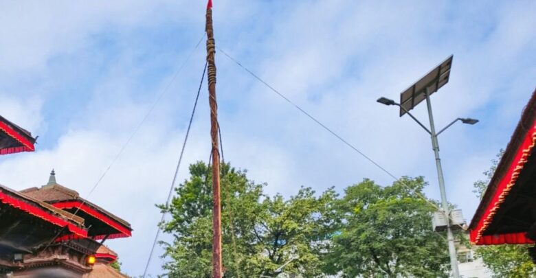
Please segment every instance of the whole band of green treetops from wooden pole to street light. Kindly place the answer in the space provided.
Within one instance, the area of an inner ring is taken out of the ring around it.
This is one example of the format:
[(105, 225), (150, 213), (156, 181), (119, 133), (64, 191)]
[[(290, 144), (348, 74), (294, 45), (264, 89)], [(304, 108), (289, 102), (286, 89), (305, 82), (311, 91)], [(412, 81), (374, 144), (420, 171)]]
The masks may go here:
[[(169, 277), (211, 277), (212, 170), (190, 165), (161, 223)], [(417, 194), (422, 177), (381, 187), (364, 180), (339, 196), (299, 187), (294, 196), (267, 196), (264, 184), (229, 164), (221, 167), (225, 277), (445, 277), (445, 239), (434, 233), (434, 207)], [(284, 266), (284, 267), (283, 267)]]

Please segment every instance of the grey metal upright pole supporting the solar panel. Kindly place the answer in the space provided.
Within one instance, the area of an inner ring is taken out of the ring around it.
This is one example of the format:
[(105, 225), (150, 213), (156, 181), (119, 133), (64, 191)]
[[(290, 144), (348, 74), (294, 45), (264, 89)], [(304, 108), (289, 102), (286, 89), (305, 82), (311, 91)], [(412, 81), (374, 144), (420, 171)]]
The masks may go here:
[[(445, 179), (443, 178), (443, 167), (441, 167), (441, 159), (439, 157), (439, 143), (437, 140), (436, 127), (434, 125), (434, 115), (432, 115), (432, 104), (430, 103), (430, 94), (426, 91), (426, 106), (428, 108), (428, 118), (430, 120), (430, 137), (432, 138), (432, 148), (434, 148), (434, 155), (436, 157), (437, 176), (439, 181), (439, 191), (441, 194), (441, 203), (443, 205), (443, 211), (447, 216), (447, 241), (449, 244), (450, 264), (452, 268), (452, 276), (454, 278), (460, 277), (460, 270), (458, 270), (458, 257), (456, 256), (456, 246), (454, 246), (454, 235), (452, 235), (452, 229), (450, 227), (450, 209), (447, 202), (447, 192), (445, 191)], [(443, 130), (442, 130), (443, 131)]]

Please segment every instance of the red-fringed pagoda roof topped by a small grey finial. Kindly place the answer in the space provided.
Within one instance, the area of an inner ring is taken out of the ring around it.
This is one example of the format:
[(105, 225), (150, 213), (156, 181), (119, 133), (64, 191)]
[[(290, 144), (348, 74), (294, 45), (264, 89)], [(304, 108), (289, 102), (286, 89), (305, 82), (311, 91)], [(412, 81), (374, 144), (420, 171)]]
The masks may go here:
[(76, 213), (77, 216), (84, 218), (85, 227), (88, 227), (88, 235), (93, 240), (126, 238), (132, 235), (129, 222), (81, 198), (75, 190), (59, 185), (52, 176), (54, 176), (54, 172), (47, 185), (43, 185), (41, 188), (31, 187), (22, 192), (27, 196), (47, 202), (53, 207)]

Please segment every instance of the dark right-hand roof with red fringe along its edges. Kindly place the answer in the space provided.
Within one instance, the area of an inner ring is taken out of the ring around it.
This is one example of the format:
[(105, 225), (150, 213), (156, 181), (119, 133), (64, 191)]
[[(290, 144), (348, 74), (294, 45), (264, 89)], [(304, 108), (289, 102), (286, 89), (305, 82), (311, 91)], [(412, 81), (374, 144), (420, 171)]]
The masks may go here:
[(469, 225), (474, 244), (531, 244), (536, 240), (536, 91)]

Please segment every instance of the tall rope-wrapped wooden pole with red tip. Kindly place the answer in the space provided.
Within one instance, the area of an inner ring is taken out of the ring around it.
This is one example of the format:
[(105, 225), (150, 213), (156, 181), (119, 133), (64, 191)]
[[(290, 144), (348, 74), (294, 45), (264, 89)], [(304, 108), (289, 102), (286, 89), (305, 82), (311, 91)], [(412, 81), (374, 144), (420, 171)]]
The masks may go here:
[(208, 102), (210, 104), (210, 137), (212, 139), (212, 277), (222, 277), (221, 266), (221, 205), (220, 152), (218, 142), (218, 103), (216, 102), (216, 63), (214, 30), (212, 28), (212, 0), (208, 1), (205, 31), (207, 32)]

